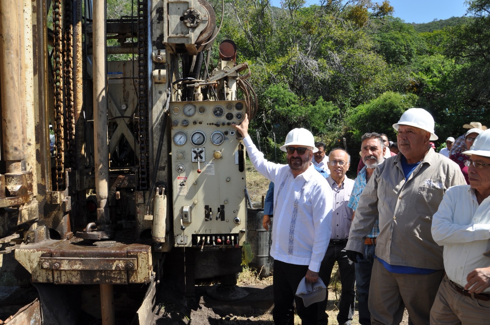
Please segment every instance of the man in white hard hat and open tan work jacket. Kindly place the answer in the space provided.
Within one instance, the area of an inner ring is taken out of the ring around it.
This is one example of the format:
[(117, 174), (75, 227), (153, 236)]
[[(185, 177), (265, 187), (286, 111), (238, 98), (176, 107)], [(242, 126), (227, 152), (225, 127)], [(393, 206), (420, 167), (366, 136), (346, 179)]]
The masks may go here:
[(378, 165), (361, 194), (349, 233), (351, 260), (364, 254), (366, 236), (379, 218), (376, 260), (368, 306), (371, 324), (429, 324), (444, 273), (442, 249), (430, 232), (432, 215), (447, 188), (465, 184), (458, 165), (437, 154), (434, 118), (411, 108), (393, 124), (400, 154)]

